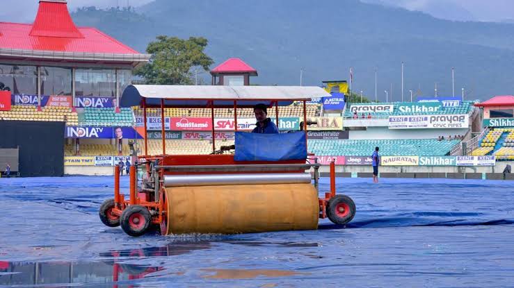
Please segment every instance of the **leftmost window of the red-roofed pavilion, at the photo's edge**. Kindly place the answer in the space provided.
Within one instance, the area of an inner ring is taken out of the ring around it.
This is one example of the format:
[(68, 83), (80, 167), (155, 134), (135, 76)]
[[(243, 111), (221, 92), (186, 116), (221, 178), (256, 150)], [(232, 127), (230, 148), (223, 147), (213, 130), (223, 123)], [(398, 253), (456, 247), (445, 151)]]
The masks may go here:
[(0, 89), (13, 94), (38, 94), (38, 69), (35, 66), (0, 65)]

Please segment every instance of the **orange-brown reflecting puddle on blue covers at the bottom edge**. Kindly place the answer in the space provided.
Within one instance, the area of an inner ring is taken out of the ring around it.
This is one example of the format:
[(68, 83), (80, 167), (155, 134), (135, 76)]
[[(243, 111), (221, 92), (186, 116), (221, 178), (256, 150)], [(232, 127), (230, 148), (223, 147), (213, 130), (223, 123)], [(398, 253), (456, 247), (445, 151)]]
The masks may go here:
[(275, 269), (202, 269), (201, 271), (214, 273), (213, 275), (202, 276), (203, 278), (211, 279), (278, 278), (305, 275), (305, 273), (298, 273), (296, 271)]

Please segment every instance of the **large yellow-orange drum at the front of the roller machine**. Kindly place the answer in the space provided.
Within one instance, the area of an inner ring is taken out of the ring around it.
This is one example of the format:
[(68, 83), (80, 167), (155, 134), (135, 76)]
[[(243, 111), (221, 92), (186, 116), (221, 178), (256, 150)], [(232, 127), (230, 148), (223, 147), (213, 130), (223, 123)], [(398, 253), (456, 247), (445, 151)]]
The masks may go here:
[(168, 234), (318, 227), (318, 194), (310, 183), (166, 187), (166, 197)]

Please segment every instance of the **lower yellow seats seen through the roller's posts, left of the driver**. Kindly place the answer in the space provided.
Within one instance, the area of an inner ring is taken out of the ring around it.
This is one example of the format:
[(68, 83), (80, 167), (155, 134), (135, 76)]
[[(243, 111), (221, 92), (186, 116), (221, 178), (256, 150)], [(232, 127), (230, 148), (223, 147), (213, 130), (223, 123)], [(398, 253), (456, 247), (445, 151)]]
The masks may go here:
[[(221, 146), (234, 145), (234, 140), (216, 140), (216, 150)], [(144, 153), (145, 144), (143, 140), (138, 140), (138, 155)], [(150, 155), (162, 154), (162, 140), (149, 139), (148, 153)], [(166, 153), (172, 155), (207, 155), (212, 153), (212, 143), (205, 140), (175, 140), (166, 139)]]

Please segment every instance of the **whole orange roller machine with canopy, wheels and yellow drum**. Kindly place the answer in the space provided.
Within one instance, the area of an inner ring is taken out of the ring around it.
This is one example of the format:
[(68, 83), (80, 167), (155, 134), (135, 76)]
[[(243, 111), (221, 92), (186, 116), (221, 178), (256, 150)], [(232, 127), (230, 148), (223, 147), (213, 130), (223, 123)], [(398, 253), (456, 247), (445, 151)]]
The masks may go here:
[[(355, 203), (336, 194), (335, 164), (330, 164), (330, 192), (320, 198), (319, 164), (310, 164), (307, 156), (306, 101), (328, 95), (320, 87), (130, 85), (120, 105), (143, 108), (144, 155), (130, 167), (128, 199), (120, 192), (119, 167), (114, 168), (114, 198), (102, 203), (100, 219), (106, 226), (122, 226), (131, 236), (143, 235), (152, 226), (161, 235), (232, 234), (313, 230), (326, 217), (341, 225), (350, 222)], [(238, 131), (238, 108), (274, 105), (279, 123), (278, 106), (294, 101), (303, 103), (303, 131), (273, 135)], [(166, 135), (164, 108), (210, 108), (213, 153), (169, 155), (163, 139), (162, 155), (148, 155), (146, 109), (156, 107), (161, 108), (161, 135)], [(216, 151), (215, 108), (234, 110), (235, 147)], [(225, 153), (231, 148), (234, 153)], [(145, 171), (140, 181), (138, 167)]]

